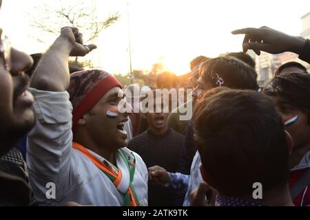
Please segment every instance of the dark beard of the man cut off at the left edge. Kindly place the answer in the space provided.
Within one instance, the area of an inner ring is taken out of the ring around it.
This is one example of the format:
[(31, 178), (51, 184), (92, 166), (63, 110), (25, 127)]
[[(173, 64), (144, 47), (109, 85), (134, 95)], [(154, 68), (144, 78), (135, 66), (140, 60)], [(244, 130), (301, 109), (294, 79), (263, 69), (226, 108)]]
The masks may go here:
[(35, 124), (34, 118), (23, 123), (14, 119), (10, 120), (10, 122), (8, 120), (6, 122), (0, 121), (2, 124), (0, 126), (0, 156), (8, 153), (19, 142), (21, 137), (31, 131)]

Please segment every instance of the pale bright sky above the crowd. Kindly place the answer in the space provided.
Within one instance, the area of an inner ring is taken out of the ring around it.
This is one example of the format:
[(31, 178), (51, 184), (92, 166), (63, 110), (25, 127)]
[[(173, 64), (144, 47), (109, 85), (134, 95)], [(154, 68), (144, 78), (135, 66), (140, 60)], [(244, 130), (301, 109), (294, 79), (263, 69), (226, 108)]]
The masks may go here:
[[(130, 72), (129, 36), (133, 69), (150, 70), (154, 63), (161, 62), (166, 70), (180, 75), (189, 72), (189, 62), (196, 56), (216, 57), (242, 50), (242, 36), (232, 35), (232, 30), (267, 25), (299, 35), (302, 32), (300, 17), (310, 12), (309, 0), (93, 1), (103, 17), (110, 12), (121, 15), (117, 23), (100, 34), (94, 42), (98, 49), (90, 56), (95, 66), (112, 74)], [(34, 36), (41, 33), (30, 23), (29, 14), (43, 18), (42, 12), (36, 9), (43, 2), (51, 8), (58, 3), (56, 0), (3, 0), (0, 11), (0, 26), (12, 45), (29, 54), (44, 52), (52, 43), (52, 39), (37, 42)], [(84, 2), (87, 7), (91, 1)]]

